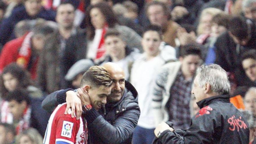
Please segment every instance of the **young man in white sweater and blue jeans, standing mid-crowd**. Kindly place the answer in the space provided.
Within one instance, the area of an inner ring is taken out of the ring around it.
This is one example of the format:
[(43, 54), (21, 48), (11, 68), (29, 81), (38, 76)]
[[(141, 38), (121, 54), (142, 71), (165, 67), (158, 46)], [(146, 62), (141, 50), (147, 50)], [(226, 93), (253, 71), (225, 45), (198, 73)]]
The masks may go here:
[(161, 57), (161, 28), (150, 25), (145, 29), (141, 44), (145, 51), (131, 69), (131, 83), (138, 91), (141, 115), (134, 129), (133, 143), (152, 143), (154, 138), (154, 116), (151, 109), (153, 81), (157, 70), (166, 61)]

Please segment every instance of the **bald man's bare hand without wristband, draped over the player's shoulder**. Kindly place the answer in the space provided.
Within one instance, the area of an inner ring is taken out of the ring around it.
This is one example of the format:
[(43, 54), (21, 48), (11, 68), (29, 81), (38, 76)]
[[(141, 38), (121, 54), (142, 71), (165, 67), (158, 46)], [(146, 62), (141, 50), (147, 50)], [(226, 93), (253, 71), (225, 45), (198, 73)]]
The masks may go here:
[(66, 95), (67, 107), (65, 110), (65, 114), (67, 114), (68, 110), (71, 108), (71, 117), (75, 117), (74, 113), (76, 111), (76, 118), (77, 120), (79, 120), (82, 115), (82, 104), (80, 98), (73, 90), (67, 91)]

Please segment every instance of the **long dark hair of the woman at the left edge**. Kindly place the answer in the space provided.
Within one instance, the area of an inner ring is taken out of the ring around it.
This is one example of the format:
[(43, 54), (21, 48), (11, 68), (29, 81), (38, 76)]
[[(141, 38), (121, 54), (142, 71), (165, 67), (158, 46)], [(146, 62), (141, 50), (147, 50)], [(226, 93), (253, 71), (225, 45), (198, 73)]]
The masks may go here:
[(3, 69), (3, 73), (0, 77), (0, 93), (2, 98), (4, 98), (8, 93), (8, 90), (5, 88), (3, 84), (3, 74), (7, 73), (10, 73), (13, 77), (15, 77), (18, 80), (17, 88), (25, 89), (32, 84), (29, 72), (27, 72), (22, 67), (19, 67), (16, 63), (11, 63)]

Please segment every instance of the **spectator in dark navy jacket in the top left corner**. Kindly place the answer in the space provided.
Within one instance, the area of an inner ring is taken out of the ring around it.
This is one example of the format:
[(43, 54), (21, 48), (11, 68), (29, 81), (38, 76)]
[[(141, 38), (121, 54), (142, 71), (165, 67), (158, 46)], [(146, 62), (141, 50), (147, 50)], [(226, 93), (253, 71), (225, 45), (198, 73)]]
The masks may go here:
[(42, 8), (41, 1), (42, 0), (25, 0), (24, 6), (13, 10), (10, 17), (1, 23), (0, 43), (2, 45), (8, 42), (10, 38), (14, 38), (13, 29), (21, 20), (43, 18), (54, 21), (55, 13), (46, 11), (44, 8)]

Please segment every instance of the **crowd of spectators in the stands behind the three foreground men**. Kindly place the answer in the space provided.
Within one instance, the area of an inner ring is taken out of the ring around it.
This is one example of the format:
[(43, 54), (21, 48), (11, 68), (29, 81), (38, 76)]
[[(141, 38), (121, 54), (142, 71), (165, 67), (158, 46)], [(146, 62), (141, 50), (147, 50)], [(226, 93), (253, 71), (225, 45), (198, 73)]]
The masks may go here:
[(256, 0), (0, 0), (0, 144), (42, 143), (46, 95), (113, 62), (138, 91), (132, 143), (160, 122), (188, 128), (197, 68), (228, 72), (230, 101), (256, 128)]

